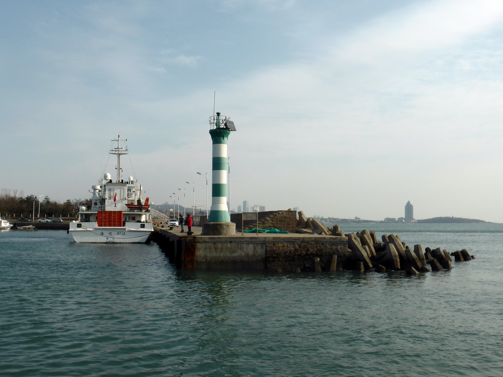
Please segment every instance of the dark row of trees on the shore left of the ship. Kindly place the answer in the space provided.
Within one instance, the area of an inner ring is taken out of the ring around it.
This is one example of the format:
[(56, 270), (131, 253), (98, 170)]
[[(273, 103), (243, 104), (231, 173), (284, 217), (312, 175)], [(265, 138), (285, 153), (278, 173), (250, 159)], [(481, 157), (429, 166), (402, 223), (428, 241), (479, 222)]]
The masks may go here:
[(2, 189), (0, 192), (0, 214), (5, 217), (76, 217), (79, 206), (91, 205), (91, 199), (66, 200), (64, 203), (43, 199), (37, 195), (24, 195), (23, 191)]

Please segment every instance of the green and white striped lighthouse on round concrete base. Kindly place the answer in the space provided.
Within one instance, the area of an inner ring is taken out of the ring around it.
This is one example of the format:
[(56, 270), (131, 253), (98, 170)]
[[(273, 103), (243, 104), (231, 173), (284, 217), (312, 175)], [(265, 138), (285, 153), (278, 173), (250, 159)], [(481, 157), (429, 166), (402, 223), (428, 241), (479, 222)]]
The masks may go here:
[(216, 113), (210, 117), (212, 143), (211, 208), (208, 221), (203, 224), (203, 235), (233, 235), (236, 225), (230, 222), (227, 207), (227, 140), (235, 131), (234, 122), (229, 117)]

